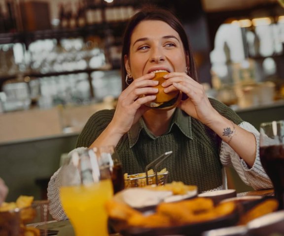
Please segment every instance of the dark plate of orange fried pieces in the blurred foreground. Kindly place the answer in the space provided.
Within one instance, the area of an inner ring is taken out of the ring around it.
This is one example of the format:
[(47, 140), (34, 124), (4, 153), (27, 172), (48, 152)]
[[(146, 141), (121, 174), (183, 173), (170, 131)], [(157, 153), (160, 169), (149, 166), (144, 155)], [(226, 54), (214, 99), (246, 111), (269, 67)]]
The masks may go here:
[(235, 225), (239, 220), (235, 203), (214, 205), (212, 199), (202, 197), (161, 203), (146, 214), (115, 200), (109, 201), (106, 209), (110, 225), (124, 236), (197, 236), (203, 231)]

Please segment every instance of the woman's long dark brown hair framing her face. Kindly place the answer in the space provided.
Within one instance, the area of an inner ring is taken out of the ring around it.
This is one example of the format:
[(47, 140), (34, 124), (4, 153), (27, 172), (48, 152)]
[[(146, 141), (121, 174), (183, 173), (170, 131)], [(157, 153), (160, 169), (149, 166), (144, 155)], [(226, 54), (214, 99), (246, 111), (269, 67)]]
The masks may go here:
[(162, 8), (157, 8), (155, 6), (147, 6), (139, 10), (133, 17), (130, 18), (123, 36), (123, 45), (122, 45), (122, 54), (121, 54), (121, 76), (122, 76), (122, 90), (127, 88), (125, 83), (125, 77), (127, 75), (125, 65), (124, 65), (124, 56), (129, 56), (130, 50), (130, 41), (133, 30), (135, 27), (142, 21), (145, 20), (158, 20), (167, 23), (170, 27), (178, 32), (178, 35), (182, 41), (185, 55), (189, 58), (188, 75), (197, 81), (197, 73), (195, 68), (195, 63), (193, 59), (193, 54), (191, 47), (189, 45), (187, 35), (185, 30), (178, 20), (178, 18), (172, 14), (170, 11)]

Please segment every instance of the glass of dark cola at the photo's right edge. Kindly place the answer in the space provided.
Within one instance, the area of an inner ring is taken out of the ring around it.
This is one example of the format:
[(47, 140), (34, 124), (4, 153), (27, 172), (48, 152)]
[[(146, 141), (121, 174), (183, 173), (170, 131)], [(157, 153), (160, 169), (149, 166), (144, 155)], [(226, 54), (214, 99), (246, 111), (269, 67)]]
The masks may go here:
[(284, 209), (284, 120), (260, 124), (259, 154), (273, 183), (279, 209)]

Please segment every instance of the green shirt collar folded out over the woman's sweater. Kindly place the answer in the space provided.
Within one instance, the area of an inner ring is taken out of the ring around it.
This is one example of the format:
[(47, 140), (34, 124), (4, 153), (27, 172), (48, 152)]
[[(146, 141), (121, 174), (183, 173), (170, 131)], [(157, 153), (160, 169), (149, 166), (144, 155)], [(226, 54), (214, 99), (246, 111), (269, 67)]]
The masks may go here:
[[(176, 124), (179, 130), (189, 139), (192, 139), (192, 131), (191, 131), (191, 117), (188, 116), (185, 112), (180, 109), (176, 109), (174, 113), (174, 117), (171, 121), (169, 130), (166, 134), (170, 133), (173, 125)], [(154, 136), (149, 129), (147, 128), (143, 118), (140, 118), (139, 121), (132, 125), (130, 130), (128, 131), (128, 139), (129, 139), (129, 148), (132, 148), (138, 141), (141, 130), (144, 129), (146, 134), (153, 140), (155, 140), (156, 136)]]

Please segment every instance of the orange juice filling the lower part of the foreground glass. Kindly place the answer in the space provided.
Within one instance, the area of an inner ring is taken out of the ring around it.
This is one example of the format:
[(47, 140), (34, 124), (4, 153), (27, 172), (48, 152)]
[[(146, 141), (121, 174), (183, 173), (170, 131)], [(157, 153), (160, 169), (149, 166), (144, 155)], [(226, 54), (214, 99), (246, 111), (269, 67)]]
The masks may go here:
[(60, 188), (60, 199), (76, 236), (108, 236), (105, 203), (112, 195), (110, 179)]

